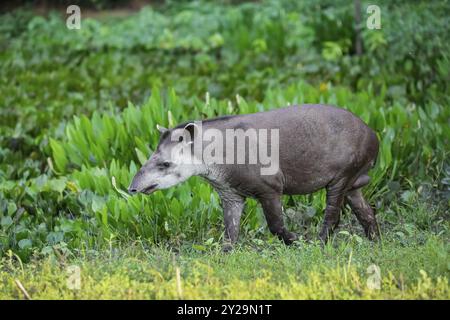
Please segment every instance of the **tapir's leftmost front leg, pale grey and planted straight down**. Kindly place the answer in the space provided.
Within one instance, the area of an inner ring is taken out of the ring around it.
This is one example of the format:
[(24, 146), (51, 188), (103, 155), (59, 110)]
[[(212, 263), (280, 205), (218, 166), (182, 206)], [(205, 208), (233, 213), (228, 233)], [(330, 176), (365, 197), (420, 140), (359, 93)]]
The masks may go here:
[(230, 251), (238, 240), (245, 199), (237, 194), (219, 193), (225, 222), (223, 250)]

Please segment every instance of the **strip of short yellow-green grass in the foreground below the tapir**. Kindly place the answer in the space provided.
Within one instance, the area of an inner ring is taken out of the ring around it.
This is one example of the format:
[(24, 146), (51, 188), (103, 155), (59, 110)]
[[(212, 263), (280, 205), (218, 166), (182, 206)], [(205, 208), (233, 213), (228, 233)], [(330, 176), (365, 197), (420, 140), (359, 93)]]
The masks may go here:
[[(0, 299), (24, 298), (16, 279), (32, 299), (449, 299), (448, 249), (437, 237), (406, 246), (348, 238), (324, 248), (246, 239), (229, 254), (215, 243), (199, 251), (137, 241), (26, 265), (5, 258)], [(68, 287), (73, 265), (81, 270), (79, 290)], [(367, 284), (376, 277), (371, 265), (379, 267), (379, 289)]]

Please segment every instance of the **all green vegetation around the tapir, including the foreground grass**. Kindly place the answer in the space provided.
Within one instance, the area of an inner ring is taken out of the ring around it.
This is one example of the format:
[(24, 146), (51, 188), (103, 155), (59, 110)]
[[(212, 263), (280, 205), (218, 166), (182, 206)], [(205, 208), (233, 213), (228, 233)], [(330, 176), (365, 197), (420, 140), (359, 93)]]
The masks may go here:
[[(57, 12), (1, 15), (0, 298), (21, 297), (14, 279), (35, 298), (177, 298), (175, 266), (186, 298), (449, 298), (450, 4), (378, 5), (360, 56), (351, 1), (169, 2), (81, 30)], [(379, 134), (364, 192), (380, 243), (345, 208), (321, 248), (318, 192), (284, 199), (294, 247), (248, 200), (241, 247), (223, 255), (201, 179), (124, 193), (156, 123), (301, 103), (347, 108)], [(372, 263), (381, 290), (365, 286)], [(85, 290), (65, 287), (70, 264)]]

